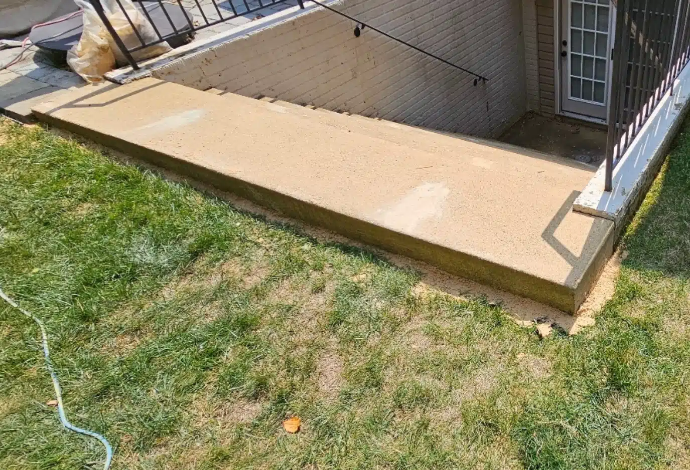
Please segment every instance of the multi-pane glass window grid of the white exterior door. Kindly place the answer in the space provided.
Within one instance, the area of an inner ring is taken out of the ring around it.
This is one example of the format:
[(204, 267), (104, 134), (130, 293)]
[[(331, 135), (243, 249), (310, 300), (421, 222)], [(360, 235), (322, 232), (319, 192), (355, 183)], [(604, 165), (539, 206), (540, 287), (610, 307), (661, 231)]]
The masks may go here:
[(571, 0), (569, 96), (605, 105), (609, 54), (609, 1)]

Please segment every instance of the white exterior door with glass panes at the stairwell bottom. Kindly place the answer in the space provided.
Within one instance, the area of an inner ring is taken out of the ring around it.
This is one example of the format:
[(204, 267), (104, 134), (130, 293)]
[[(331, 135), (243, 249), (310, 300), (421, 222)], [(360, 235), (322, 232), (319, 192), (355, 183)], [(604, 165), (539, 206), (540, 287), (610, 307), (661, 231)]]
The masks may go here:
[(561, 109), (607, 119), (613, 8), (609, 0), (561, 2)]

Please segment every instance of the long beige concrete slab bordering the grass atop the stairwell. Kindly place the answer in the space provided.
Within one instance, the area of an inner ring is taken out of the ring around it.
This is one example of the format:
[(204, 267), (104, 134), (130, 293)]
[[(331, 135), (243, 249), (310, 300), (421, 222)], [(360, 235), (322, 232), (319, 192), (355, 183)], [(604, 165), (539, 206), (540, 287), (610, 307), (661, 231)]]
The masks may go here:
[(481, 139), (157, 79), (34, 108), (39, 119), (288, 216), (575, 311), (613, 223), (572, 212), (579, 163)]

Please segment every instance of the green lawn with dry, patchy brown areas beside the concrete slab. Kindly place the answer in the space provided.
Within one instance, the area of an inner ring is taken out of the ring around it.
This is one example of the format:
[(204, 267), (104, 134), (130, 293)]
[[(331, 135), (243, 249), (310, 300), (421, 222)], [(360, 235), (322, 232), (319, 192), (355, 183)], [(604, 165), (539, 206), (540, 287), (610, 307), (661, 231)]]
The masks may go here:
[[(8, 121), (0, 285), (113, 469), (687, 469), (689, 131), (576, 336)], [(0, 305), (0, 469), (102, 468), (51, 398)]]

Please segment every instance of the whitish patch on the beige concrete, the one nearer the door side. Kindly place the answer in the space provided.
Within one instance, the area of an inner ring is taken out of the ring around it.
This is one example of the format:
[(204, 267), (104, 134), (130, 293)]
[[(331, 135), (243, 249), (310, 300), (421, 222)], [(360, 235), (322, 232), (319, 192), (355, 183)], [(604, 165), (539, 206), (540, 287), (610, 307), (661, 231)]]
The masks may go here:
[(425, 221), (443, 216), (443, 207), (449, 194), (450, 190), (444, 183), (423, 183), (391, 207), (377, 210), (373, 218), (396, 232), (413, 234)]

